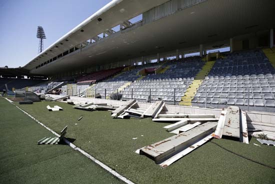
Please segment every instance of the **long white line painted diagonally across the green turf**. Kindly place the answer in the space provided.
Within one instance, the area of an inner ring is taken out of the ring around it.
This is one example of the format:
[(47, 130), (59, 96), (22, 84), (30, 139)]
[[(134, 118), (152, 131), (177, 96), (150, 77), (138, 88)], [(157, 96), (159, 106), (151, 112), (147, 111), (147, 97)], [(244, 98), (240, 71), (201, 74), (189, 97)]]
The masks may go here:
[[(6, 99), (6, 98), (5, 98)], [(8, 102), (10, 102), (7, 99)], [(10, 102), (11, 103), (11, 102)], [(12, 105), (14, 105), (15, 107), (17, 107), (15, 104), (11, 103)], [(51, 133), (53, 133), (56, 136), (60, 136), (58, 133), (56, 133), (55, 131), (53, 131), (52, 129), (48, 128), (46, 125), (44, 125), (43, 123), (41, 123), (40, 121), (38, 121), (37, 119), (35, 119), (34, 117), (32, 117), (30, 114), (28, 114), (27, 112), (25, 112), (24, 110), (20, 109), (19, 107), (17, 107), (20, 111), (22, 111), (24, 114), (28, 115), (31, 119), (33, 119), (36, 123), (40, 124), (41, 126), (43, 126), (44, 128), (46, 128), (48, 131), (50, 131)], [(91, 159), (93, 162), (97, 163), (99, 166), (101, 166), (102, 168), (104, 168), (105, 170), (107, 170), (108, 172), (110, 172), (112, 175), (114, 175), (115, 177), (117, 177), (118, 179), (124, 181), (125, 183), (128, 184), (134, 184), (134, 182), (130, 181), (129, 179), (127, 179), (126, 177), (120, 175), (119, 173), (117, 173), (116, 171), (114, 171), (113, 169), (111, 169), (110, 167), (108, 167), (107, 165), (105, 165), (104, 163), (102, 163), (101, 161), (97, 160), (96, 158), (94, 158), (93, 156), (91, 156), (90, 154), (88, 154), (87, 152), (85, 152), (84, 150), (80, 149), (79, 147), (75, 146), (73, 143), (69, 142), (66, 138), (63, 138), (64, 142), (66, 144), (68, 144), (71, 148), (73, 148), (74, 150), (79, 151), (80, 153), (82, 153), (83, 155), (85, 155), (87, 158)]]

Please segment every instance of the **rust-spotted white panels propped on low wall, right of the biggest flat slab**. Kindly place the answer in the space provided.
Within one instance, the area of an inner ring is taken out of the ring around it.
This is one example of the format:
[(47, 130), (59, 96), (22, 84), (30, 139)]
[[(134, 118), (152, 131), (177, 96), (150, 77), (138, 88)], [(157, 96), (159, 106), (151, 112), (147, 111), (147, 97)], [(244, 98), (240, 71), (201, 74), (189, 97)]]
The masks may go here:
[(212, 136), (220, 139), (222, 135), (237, 137), (240, 142), (249, 143), (246, 113), (240, 111), (239, 107), (228, 106), (226, 110), (221, 111), (217, 128)]

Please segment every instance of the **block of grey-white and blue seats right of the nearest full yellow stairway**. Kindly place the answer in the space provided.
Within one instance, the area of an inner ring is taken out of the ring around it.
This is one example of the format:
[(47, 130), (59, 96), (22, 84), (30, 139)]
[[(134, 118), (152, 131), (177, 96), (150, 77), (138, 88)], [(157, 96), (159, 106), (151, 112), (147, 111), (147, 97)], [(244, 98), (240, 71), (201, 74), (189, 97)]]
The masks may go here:
[(274, 105), (274, 74), (274, 68), (261, 50), (230, 53), (215, 62), (197, 89), (192, 105), (201, 106), (206, 102), (218, 108), (245, 106), (249, 98), (253, 110), (266, 110)]

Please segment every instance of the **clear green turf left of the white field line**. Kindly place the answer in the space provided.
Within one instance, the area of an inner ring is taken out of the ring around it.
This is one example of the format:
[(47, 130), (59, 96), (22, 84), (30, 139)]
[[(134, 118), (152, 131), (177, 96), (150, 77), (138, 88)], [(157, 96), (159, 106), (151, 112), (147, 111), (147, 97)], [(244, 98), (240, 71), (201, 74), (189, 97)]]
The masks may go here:
[[(59, 130), (60, 131), (60, 130)], [(0, 183), (123, 183), (0, 97)]]

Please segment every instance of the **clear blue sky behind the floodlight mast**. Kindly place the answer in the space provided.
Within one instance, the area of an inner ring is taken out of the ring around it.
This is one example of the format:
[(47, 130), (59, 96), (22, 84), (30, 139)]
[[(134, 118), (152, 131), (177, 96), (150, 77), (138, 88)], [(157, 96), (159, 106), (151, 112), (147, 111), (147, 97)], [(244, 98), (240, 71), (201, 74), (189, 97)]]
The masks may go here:
[(0, 67), (24, 66), (37, 55), (37, 26), (44, 49), (111, 0), (0, 0)]

